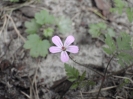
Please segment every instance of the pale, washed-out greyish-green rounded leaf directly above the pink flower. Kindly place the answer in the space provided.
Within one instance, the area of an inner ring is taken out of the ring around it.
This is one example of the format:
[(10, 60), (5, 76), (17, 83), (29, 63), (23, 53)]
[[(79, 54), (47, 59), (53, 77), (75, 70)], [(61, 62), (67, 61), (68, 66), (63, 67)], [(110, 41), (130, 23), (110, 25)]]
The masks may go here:
[(72, 21), (62, 16), (57, 20), (57, 26), (61, 33), (70, 32), (72, 30)]

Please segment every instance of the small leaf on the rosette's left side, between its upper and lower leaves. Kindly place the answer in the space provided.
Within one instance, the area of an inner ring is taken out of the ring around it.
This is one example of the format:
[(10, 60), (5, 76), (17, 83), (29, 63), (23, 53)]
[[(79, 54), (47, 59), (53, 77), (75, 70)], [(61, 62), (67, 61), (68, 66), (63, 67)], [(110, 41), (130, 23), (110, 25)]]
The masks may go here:
[(33, 19), (31, 22), (25, 22), (25, 27), (28, 34), (35, 34), (39, 30), (40, 25)]

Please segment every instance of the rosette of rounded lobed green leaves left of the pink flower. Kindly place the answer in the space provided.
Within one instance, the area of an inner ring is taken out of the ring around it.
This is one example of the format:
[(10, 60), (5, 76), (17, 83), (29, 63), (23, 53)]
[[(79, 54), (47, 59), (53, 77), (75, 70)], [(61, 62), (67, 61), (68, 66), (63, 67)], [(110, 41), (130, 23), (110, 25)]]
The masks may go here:
[(56, 18), (47, 10), (41, 10), (35, 14), (34, 19), (25, 22), (25, 32), (29, 36), (24, 48), (30, 50), (32, 57), (45, 57), (50, 47), (49, 38), (53, 36), (56, 26), (60, 33), (65, 33), (71, 30), (71, 25), (69, 18)]

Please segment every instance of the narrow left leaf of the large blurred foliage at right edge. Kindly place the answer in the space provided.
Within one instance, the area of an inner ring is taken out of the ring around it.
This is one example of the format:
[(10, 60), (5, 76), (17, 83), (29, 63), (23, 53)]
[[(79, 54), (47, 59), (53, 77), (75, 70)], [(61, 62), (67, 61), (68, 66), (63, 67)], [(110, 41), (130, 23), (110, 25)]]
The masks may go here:
[(113, 54), (116, 51), (116, 46), (114, 43), (114, 40), (110, 37), (109, 34), (107, 34), (106, 39), (105, 39), (105, 44), (108, 47), (103, 47), (103, 50), (107, 53), (107, 54)]

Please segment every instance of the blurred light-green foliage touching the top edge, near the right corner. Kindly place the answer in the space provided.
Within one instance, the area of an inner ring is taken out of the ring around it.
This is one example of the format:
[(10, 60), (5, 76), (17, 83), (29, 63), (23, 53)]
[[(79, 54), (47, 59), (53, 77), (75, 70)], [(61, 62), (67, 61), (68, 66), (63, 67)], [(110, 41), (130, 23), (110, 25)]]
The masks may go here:
[(115, 7), (111, 9), (111, 12), (118, 12), (119, 14), (122, 14), (122, 11), (125, 7), (125, 3), (123, 0), (114, 0)]

